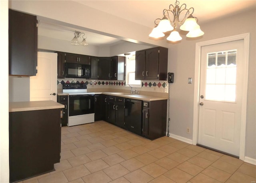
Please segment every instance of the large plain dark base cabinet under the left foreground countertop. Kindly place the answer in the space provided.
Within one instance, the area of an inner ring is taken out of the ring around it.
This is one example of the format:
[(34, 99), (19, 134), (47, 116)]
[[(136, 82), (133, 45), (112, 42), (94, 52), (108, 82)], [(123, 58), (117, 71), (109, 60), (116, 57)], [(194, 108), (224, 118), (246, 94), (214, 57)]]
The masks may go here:
[(54, 171), (60, 162), (60, 110), (9, 113), (10, 182)]

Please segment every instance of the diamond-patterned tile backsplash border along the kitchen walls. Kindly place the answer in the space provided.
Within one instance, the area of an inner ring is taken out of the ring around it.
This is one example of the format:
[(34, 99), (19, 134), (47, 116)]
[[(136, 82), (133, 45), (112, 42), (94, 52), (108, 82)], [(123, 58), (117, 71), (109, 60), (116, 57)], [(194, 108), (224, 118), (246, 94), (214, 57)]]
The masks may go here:
[[(72, 78), (70, 78), (72, 79)], [(57, 84), (67, 84), (67, 83), (82, 83), (82, 84), (90, 84), (90, 85), (102, 85), (102, 86), (126, 86), (125, 81), (99, 81), (99, 80), (57, 80)], [(167, 81), (142, 81), (141, 87), (143, 88), (167, 88), (168, 84)]]

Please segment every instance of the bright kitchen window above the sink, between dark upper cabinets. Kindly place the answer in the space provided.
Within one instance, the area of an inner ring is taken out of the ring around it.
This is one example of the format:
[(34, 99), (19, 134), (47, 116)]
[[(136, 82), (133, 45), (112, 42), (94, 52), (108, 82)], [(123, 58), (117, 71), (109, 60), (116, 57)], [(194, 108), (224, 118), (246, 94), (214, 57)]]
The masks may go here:
[(135, 53), (126, 57), (126, 84), (134, 87), (141, 87), (141, 81), (135, 80)]

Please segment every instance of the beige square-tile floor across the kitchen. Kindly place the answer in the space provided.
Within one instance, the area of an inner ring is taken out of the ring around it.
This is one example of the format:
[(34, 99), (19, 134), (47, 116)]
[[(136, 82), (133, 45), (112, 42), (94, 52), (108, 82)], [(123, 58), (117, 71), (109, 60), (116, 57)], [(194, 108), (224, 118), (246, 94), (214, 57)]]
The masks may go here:
[(170, 137), (149, 140), (105, 121), (62, 127), (56, 171), (23, 183), (255, 183), (256, 166)]

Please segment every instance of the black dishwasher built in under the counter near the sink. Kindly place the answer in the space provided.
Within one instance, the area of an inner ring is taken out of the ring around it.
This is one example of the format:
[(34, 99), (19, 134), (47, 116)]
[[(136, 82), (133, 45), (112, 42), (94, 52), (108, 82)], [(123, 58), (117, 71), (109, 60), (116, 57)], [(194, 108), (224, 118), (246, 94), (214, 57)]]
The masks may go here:
[(126, 129), (141, 135), (142, 133), (142, 101), (135, 99), (124, 100), (124, 123)]

